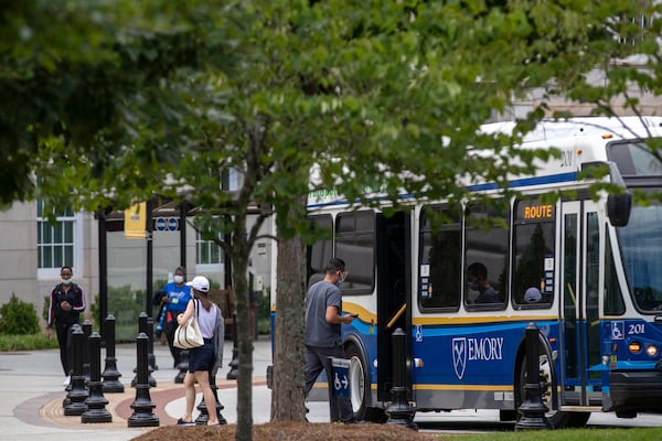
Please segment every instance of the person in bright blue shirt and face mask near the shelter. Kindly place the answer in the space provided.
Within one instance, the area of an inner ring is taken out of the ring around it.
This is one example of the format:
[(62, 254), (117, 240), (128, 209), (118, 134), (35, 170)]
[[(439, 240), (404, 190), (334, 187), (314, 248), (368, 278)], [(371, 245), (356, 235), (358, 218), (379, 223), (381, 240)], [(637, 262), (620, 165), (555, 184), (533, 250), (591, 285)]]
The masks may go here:
[(174, 331), (177, 330), (177, 316), (186, 310), (186, 304), (191, 300), (191, 287), (186, 286), (186, 270), (184, 267), (177, 267), (174, 270), (174, 277), (170, 283), (166, 283), (163, 289), (157, 293), (157, 298), (160, 298), (160, 302), (163, 305), (163, 323), (160, 323), (166, 338), (168, 340), (168, 347), (170, 347), (170, 354), (173, 358), (173, 367), (180, 362), (180, 354), (182, 349), (175, 347)]

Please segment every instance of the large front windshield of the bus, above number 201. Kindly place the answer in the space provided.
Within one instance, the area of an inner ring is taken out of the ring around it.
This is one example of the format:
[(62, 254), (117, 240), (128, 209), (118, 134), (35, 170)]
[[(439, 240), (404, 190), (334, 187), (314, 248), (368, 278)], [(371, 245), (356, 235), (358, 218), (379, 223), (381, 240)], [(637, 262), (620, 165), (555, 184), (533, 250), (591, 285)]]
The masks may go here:
[(628, 226), (618, 228), (623, 263), (637, 308), (662, 310), (662, 205), (633, 206)]

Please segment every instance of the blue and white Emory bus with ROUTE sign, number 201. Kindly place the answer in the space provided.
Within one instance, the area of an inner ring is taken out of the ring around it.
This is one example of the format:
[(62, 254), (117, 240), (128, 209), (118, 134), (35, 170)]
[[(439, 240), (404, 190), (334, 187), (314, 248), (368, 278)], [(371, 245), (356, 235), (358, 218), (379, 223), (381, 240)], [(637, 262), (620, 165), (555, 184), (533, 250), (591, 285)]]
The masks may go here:
[[(331, 256), (342, 258), (343, 310), (359, 314), (343, 325), (355, 411), (374, 419), (389, 404), (391, 335), (399, 327), (416, 411), (498, 409), (515, 419), (531, 322), (541, 330), (552, 427), (583, 426), (595, 411), (662, 411), (662, 205), (631, 197), (662, 190), (661, 155), (642, 141), (649, 137), (662, 137), (662, 118), (544, 121), (520, 148), (554, 147), (560, 158), (512, 179), (519, 196), (501, 205), (412, 200), (386, 216), (312, 193), (311, 218), (333, 234), (309, 248), (310, 282)], [(609, 170), (604, 180), (626, 193), (590, 196), (595, 180), (580, 172), (600, 164)], [(471, 190), (500, 197), (490, 183)], [(434, 212), (451, 220), (433, 227)], [(474, 226), (488, 217), (503, 225)], [(495, 301), (476, 301), (473, 263)]]

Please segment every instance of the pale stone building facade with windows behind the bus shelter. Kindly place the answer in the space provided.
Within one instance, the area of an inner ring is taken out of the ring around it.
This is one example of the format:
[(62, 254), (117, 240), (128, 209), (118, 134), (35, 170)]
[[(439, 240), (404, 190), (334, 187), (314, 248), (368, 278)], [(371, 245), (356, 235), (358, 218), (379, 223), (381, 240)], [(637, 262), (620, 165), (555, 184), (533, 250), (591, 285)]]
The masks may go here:
[[(40, 318), (47, 308), (47, 297), (60, 283), (62, 266), (72, 266), (73, 281), (85, 293), (86, 318), (99, 293), (99, 226), (90, 213), (63, 213), (55, 224), (41, 217), (39, 202), (17, 203), (0, 212), (0, 304), (12, 294), (34, 304)], [(170, 228), (162, 228), (163, 219), (153, 219), (152, 287), (171, 279), (180, 266), (179, 219), (169, 218)], [(174, 222), (173, 222), (174, 220)], [(177, 223), (177, 229), (172, 228)], [(166, 225), (169, 225), (168, 222)], [(213, 241), (203, 240), (191, 225), (183, 225), (186, 235), (185, 262), (189, 278), (202, 275), (212, 287), (225, 288), (225, 257)], [(264, 226), (264, 234), (270, 223)], [(125, 237), (124, 230), (107, 232), (107, 287), (109, 295), (120, 289), (147, 291), (147, 240)], [(268, 239), (256, 244), (252, 252), (253, 271), (265, 281), (268, 292), (271, 267), (271, 247)], [(111, 311), (109, 311), (111, 312)], [(45, 325), (45, 322), (43, 323)]]

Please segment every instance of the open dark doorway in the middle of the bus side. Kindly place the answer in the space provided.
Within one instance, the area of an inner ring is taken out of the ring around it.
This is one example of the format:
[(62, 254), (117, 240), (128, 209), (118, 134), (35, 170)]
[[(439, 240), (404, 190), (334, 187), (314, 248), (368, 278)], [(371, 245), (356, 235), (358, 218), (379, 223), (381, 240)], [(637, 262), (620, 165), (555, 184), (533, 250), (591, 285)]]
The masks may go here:
[[(392, 334), (405, 332), (405, 353), (410, 354), (412, 313), (412, 212), (391, 217), (377, 215), (377, 400), (391, 401), (393, 387)], [(410, 361), (408, 361), (410, 362)], [(407, 388), (412, 390), (412, 363), (406, 363)]]

